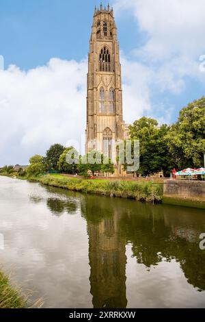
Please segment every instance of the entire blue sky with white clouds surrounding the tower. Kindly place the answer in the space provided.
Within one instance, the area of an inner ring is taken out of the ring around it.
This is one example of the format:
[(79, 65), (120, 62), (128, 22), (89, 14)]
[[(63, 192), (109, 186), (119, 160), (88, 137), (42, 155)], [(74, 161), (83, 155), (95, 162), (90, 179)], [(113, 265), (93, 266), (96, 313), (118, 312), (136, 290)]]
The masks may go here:
[[(27, 164), (53, 143), (83, 145), (87, 51), (99, 2), (0, 0), (0, 166)], [(204, 95), (205, 1), (110, 4), (126, 123), (143, 115), (176, 121), (180, 108)]]

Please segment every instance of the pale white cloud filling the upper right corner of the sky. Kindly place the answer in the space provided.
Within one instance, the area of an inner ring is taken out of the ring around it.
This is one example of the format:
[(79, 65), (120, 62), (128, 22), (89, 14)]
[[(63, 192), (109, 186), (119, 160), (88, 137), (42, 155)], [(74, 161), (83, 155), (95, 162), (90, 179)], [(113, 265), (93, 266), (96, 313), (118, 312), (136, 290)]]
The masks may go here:
[(198, 55), (205, 49), (204, 0), (115, 0), (115, 8), (117, 14), (126, 9), (134, 14), (148, 36), (140, 51), (151, 60)]

